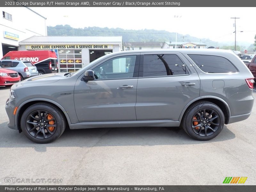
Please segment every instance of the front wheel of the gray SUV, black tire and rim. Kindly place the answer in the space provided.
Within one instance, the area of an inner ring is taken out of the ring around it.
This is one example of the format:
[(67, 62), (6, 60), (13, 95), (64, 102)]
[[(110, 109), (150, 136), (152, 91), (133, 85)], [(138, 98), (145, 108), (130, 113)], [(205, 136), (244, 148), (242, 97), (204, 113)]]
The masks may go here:
[(58, 139), (66, 128), (62, 112), (48, 103), (28, 107), (21, 116), (20, 125), (28, 139), (36, 143), (50, 143)]

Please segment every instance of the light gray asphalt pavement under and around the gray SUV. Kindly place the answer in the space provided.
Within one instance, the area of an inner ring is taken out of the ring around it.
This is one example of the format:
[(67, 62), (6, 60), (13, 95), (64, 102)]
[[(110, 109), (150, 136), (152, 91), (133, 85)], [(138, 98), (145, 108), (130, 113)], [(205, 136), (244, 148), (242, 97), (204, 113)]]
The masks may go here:
[(223, 185), (226, 177), (256, 184), (255, 102), (247, 120), (210, 141), (140, 127), (66, 130), (36, 144), (7, 127), (9, 89), (0, 87), (0, 185)]

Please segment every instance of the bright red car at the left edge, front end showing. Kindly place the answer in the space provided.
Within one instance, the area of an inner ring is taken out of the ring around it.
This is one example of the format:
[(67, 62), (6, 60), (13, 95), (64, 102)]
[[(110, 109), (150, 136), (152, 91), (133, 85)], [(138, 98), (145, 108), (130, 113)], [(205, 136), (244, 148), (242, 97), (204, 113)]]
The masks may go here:
[(0, 86), (12, 86), (20, 82), (20, 76), (16, 71), (0, 67)]

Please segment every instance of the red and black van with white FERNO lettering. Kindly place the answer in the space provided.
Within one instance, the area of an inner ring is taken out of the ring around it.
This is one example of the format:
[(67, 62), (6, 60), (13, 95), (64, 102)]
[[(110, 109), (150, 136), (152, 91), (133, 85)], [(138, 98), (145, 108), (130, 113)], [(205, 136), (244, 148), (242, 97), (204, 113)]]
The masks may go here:
[(10, 51), (3, 59), (30, 61), (36, 66), (39, 75), (58, 72), (57, 56), (53, 51)]

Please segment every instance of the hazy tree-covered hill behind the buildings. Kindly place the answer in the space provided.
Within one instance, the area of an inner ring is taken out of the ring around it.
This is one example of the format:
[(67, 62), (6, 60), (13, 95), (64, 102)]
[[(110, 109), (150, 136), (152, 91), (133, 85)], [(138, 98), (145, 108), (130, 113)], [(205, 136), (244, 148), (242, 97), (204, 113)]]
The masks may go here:
[[(85, 27), (85, 28), (72, 28), (69, 25), (56, 25), (55, 27), (47, 27), (48, 36), (123, 36), (123, 42), (175, 42), (176, 33), (164, 30), (154, 29), (122, 29), (122, 28), (100, 28), (100, 27)], [(178, 34), (177, 42), (205, 42), (207, 46), (215, 46), (217, 42), (209, 42), (209, 39), (200, 39), (190, 36), (188, 34)]]

